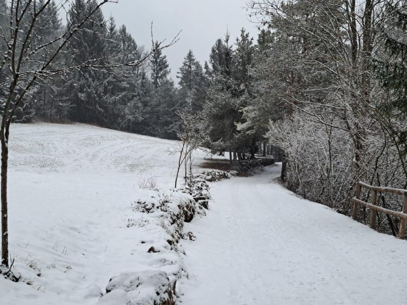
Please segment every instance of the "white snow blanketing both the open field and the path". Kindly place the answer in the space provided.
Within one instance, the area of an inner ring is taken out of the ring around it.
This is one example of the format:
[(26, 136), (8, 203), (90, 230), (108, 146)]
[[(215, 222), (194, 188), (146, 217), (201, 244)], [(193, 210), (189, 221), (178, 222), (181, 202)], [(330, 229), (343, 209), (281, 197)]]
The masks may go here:
[(159, 195), (138, 186), (155, 177), (166, 196), (176, 142), (32, 124), (13, 125), (9, 144), (10, 254), (32, 285), (0, 277), (2, 305), (138, 303), (175, 280), (186, 305), (405, 303), (407, 242), (294, 196), (275, 181), (279, 166), (213, 182), (210, 210), (185, 224), (196, 240), (183, 240), (180, 256)]

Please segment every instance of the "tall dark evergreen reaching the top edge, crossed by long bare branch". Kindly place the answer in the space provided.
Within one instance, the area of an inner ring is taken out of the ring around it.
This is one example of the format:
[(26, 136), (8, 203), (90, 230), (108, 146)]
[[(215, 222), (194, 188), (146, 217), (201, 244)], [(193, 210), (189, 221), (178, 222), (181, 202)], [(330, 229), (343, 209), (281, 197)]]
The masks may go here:
[[(96, 1), (75, 0), (68, 14), (68, 24), (80, 24), (84, 16), (97, 6)], [(87, 20), (81, 31), (68, 45), (70, 66), (83, 63), (106, 64), (107, 27), (100, 9), (97, 9), (90, 20)], [(92, 59), (91, 59), (92, 58)], [(67, 77), (63, 92), (69, 96), (70, 119), (82, 123), (104, 125), (105, 105), (100, 103), (104, 97), (104, 72), (90, 69), (78, 69)]]

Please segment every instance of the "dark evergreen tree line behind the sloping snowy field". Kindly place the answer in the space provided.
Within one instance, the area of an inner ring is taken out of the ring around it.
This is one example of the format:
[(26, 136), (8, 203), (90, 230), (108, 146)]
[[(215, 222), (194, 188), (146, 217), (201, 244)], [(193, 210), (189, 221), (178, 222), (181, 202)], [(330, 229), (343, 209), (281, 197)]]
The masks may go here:
[[(0, 16), (7, 22), (5, 17), (9, 15), (10, 7), (6, 0), (1, 1)], [(20, 7), (25, 2), (32, 2), (32, 6), (46, 3), (42, 0), (22, 1)], [(59, 14), (60, 5), (51, 1), (40, 15), (42, 20), (38, 20), (39, 24), (46, 23), (46, 26), (37, 31), (32, 45), (41, 45), (57, 33), (66, 31), (67, 26), (81, 22), (96, 5), (96, 1), (85, 0), (70, 3), (68, 25), (65, 25)], [(2, 28), (6, 29), (7, 25)], [(188, 52), (180, 68), (177, 87), (169, 78), (169, 66), (159, 42), (155, 42), (151, 50), (146, 50), (136, 43), (125, 25), (117, 26), (114, 18), (106, 18), (100, 8), (92, 20), (84, 24), (84, 30), (76, 33), (57, 58), (73, 69), (46, 79), (39, 77), (18, 107), (13, 121), (28, 123), (35, 118), (75, 121), (175, 139), (180, 121), (177, 110), (184, 108), (188, 99), (195, 98), (192, 90), (196, 90), (196, 96), (205, 92), (202, 86), (205, 86), (206, 78), (192, 51)], [(4, 41), (0, 41), (0, 48), (6, 55)], [(123, 62), (136, 62), (149, 52), (149, 60), (141, 65), (119, 67)], [(94, 68), (81, 66), (83, 63)], [(5, 77), (4, 73), (8, 73), (6, 67), (0, 70), (0, 77)], [(7, 90), (0, 88), (1, 98), (7, 95)]]

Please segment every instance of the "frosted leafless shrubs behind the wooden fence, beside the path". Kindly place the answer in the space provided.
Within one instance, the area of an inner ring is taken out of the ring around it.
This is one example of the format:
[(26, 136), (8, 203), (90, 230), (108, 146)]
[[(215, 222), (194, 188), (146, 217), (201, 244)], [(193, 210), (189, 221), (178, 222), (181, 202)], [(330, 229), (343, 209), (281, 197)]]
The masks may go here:
[[(357, 181), (393, 188), (405, 188), (407, 183), (397, 147), (389, 141), (380, 125), (368, 118), (353, 119), (358, 119), (358, 124), (365, 127), (364, 133), (358, 134), (363, 136), (358, 151), (354, 135), (347, 132), (340, 121), (331, 121), (332, 126), (324, 126), (302, 112), (272, 123), (268, 134), (270, 141), (285, 151), (284, 182), (287, 188), (345, 215), (351, 214), (351, 198), (355, 195)], [(361, 198), (369, 201), (370, 196), (363, 192)], [(377, 203), (400, 210), (401, 199), (379, 194)], [(359, 211), (359, 217), (368, 222), (364, 210)], [(390, 233), (397, 227), (396, 219), (385, 216), (379, 215), (377, 222), (383, 232)]]

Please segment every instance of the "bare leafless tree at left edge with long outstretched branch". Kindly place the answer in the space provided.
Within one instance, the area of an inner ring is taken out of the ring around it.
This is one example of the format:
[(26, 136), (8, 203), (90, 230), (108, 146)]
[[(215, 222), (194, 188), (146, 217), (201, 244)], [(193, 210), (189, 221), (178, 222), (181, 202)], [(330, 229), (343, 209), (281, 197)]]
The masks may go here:
[[(74, 16), (76, 18), (73, 19), (77, 22), (69, 22), (60, 35), (57, 34), (52, 38), (42, 37), (41, 43), (38, 44), (41, 30), (50, 22), (50, 19), (45, 17), (45, 12), (52, 8), (51, 14), (53, 15), (58, 15), (61, 12), (68, 14), (70, 9), (78, 3), (82, 3), (83, 6), (76, 7), (75, 12), (78, 16)], [(0, 49), (0, 57), (2, 57), (0, 59), (0, 88), (6, 92), (5, 98), (1, 101), (3, 113), (0, 127), (2, 145), (2, 260), (0, 265), (9, 266), (7, 172), (10, 125), (16, 110), (36, 81), (59, 74), (67, 74), (69, 71), (80, 68), (105, 70), (139, 66), (151, 56), (154, 50), (166, 48), (178, 40), (178, 36), (176, 36), (168, 44), (161, 42), (153, 45), (152, 50), (136, 62), (106, 66), (100, 64), (103, 63), (101, 58), (88, 58), (75, 66), (66, 66), (62, 62), (60, 54), (65, 52), (69, 42), (74, 40), (80, 31), (90, 31), (85, 25), (95, 22), (96, 13), (106, 3), (118, 3), (118, 0), (84, 0), (82, 2), (60, 0), (56, 5), (51, 0), (10, 0), (6, 13), (2, 13), (2, 17), (7, 19), (7, 26), (0, 24), (0, 41), (5, 45), (4, 49)]]

